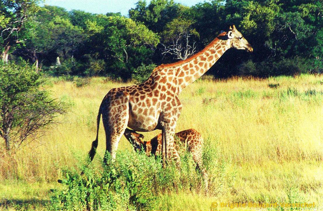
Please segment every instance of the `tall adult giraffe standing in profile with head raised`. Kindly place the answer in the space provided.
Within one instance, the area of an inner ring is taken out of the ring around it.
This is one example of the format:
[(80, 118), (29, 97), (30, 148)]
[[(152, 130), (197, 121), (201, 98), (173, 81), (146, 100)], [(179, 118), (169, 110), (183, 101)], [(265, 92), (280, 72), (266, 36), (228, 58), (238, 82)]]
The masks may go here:
[(116, 150), (127, 126), (138, 132), (162, 131), (163, 165), (169, 161), (174, 148), (176, 122), (182, 111), (178, 95), (200, 78), (223, 53), (234, 47), (249, 52), (253, 48), (242, 34), (230, 26), (202, 51), (172, 64), (156, 67), (142, 84), (111, 89), (103, 98), (97, 118), (97, 136), (89, 157), (92, 161), (98, 146), (100, 116), (106, 134), (106, 151), (116, 156)]

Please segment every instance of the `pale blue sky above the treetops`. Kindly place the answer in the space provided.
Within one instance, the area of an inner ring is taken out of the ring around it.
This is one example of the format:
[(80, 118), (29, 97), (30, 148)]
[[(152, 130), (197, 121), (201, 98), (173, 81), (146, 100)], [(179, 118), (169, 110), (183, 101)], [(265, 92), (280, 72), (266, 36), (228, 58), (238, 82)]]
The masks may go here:
[[(122, 15), (127, 16), (128, 10), (134, 8), (138, 0), (45, 0), (44, 5), (60, 6), (70, 11), (72, 9), (83, 10), (90, 13), (106, 14), (108, 12), (121, 12)], [(150, 2), (150, 0), (147, 0)], [(175, 0), (186, 6), (196, 5), (204, 0)], [(206, 0), (206, 2), (211, 2)]]

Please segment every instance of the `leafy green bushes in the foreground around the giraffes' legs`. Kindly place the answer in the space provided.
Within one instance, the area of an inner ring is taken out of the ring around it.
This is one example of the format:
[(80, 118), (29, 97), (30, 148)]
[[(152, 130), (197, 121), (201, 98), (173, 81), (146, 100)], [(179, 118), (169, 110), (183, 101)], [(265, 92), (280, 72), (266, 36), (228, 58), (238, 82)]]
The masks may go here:
[[(171, 162), (162, 168), (161, 157), (147, 157), (145, 153), (117, 151), (113, 161), (108, 154), (107, 165), (82, 164), (77, 170), (63, 172), (63, 190), (53, 190), (51, 210), (125, 210), (153, 209), (158, 195), (170, 191), (203, 191), (202, 174), (196, 171), (192, 154), (179, 152), (181, 164)], [(207, 139), (203, 150), (203, 164), (209, 171), (210, 194), (223, 193), (234, 183), (230, 162), (221, 159), (217, 144)], [(232, 173), (228, 173), (228, 172)], [(205, 190), (204, 190), (205, 191)]]

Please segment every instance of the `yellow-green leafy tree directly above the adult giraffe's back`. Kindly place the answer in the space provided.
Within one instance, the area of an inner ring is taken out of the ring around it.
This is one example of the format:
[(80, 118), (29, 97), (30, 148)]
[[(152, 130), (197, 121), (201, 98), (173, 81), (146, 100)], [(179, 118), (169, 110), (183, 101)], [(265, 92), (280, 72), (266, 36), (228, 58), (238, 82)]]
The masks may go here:
[(87, 22), (88, 43), (91, 54), (99, 54), (108, 64), (109, 74), (127, 80), (132, 71), (151, 64), (153, 48), (159, 37), (141, 23), (119, 15), (98, 16)]

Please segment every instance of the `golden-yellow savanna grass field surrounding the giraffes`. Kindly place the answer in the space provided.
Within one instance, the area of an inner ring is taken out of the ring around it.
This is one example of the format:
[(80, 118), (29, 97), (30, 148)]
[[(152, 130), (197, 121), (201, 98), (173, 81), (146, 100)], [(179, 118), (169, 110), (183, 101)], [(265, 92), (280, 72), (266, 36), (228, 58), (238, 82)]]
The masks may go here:
[[(111, 88), (130, 84), (92, 78), (77, 87), (52, 78), (46, 89), (70, 110), (46, 136), (11, 156), (0, 154), (0, 209), (47, 209), (50, 189), (64, 187), (57, 183), (61, 167), (77, 167), (95, 139), (101, 100)], [(212, 202), (314, 202), (317, 210), (323, 209), (323, 76), (204, 77), (183, 90), (180, 99), (183, 109), (176, 132), (194, 128), (211, 140), (226, 179), (217, 193), (160, 193), (153, 209), (210, 210), (215, 209)], [(144, 133), (145, 139), (159, 132)], [(101, 122), (94, 163), (104, 150)], [(119, 150), (132, 151), (124, 137)]]

